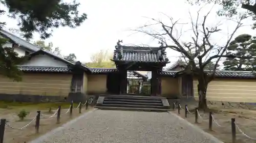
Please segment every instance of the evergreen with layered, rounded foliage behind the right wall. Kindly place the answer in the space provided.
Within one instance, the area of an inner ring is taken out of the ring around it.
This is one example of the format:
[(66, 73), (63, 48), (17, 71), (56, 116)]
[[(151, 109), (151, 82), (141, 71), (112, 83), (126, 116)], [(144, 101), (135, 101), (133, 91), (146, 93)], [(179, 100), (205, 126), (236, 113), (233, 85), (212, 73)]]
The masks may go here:
[[(242, 57), (255, 56), (256, 37), (252, 37), (248, 34), (239, 35), (230, 42), (227, 51)], [(255, 71), (255, 64), (256, 61), (254, 61), (254, 59), (227, 58), (226, 61), (223, 62), (223, 69), (232, 71)]]

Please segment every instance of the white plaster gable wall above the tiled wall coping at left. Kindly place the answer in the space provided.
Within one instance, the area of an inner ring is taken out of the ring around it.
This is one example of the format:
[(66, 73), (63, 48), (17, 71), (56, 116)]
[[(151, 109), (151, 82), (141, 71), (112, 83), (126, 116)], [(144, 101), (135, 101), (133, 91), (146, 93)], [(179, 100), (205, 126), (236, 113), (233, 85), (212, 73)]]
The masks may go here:
[(67, 67), (67, 64), (62, 62), (62, 61), (58, 61), (55, 60), (54, 58), (52, 58), (49, 55), (46, 54), (39, 54), (39, 55), (35, 55), (33, 56), (28, 62), (26, 62), (25, 64), (26, 66), (42, 66), (42, 67)]

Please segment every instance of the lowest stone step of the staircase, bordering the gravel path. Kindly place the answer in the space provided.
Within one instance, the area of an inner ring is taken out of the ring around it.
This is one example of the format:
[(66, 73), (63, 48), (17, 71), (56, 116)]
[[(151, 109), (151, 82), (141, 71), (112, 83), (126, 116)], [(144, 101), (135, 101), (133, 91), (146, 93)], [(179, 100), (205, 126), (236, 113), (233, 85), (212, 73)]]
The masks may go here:
[(166, 112), (169, 109), (157, 109), (157, 108), (127, 108), (127, 107), (108, 107), (108, 106), (95, 106), (95, 108), (101, 110), (134, 110), (134, 111), (155, 111), (155, 112)]

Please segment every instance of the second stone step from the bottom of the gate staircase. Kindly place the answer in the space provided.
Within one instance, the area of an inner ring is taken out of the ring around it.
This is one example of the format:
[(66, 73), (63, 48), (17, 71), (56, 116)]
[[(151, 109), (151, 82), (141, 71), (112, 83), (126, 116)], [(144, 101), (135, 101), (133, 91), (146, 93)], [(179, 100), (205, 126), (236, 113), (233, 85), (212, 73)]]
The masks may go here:
[(154, 106), (154, 105), (131, 105), (131, 104), (101, 104), (97, 106), (107, 106), (107, 107), (129, 107), (129, 108), (158, 108), (158, 109), (166, 109), (168, 107), (165, 106)]

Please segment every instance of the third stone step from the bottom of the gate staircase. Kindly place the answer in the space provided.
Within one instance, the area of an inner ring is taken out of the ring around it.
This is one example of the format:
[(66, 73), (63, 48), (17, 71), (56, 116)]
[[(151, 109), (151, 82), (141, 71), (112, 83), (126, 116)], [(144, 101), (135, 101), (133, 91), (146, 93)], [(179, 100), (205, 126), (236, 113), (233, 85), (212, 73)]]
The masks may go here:
[(103, 104), (130, 104), (130, 105), (157, 105), (157, 106), (163, 106), (162, 102), (159, 103), (152, 103), (152, 102), (124, 102), (124, 101), (108, 101), (108, 100), (104, 100)]

